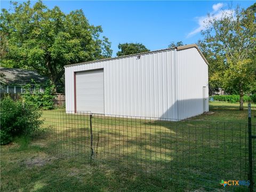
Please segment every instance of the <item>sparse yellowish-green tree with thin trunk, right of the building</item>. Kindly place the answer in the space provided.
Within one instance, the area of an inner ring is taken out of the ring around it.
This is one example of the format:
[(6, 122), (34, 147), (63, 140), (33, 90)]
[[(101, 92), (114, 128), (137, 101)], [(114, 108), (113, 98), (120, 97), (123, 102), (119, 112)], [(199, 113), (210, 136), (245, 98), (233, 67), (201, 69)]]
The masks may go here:
[[(255, 5), (255, 4), (254, 4)], [(240, 95), (239, 110), (243, 110), (243, 96), (256, 89), (255, 9), (239, 9), (223, 14), (221, 19), (209, 15), (201, 47), (210, 60), (210, 78), (226, 90)], [(205, 45), (205, 46), (203, 46)]]

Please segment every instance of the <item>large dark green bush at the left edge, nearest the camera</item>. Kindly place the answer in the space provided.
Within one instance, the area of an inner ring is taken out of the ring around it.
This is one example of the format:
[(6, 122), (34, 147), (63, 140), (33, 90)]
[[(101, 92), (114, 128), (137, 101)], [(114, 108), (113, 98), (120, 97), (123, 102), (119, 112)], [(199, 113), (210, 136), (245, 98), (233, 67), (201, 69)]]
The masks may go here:
[(31, 103), (13, 101), (10, 97), (1, 100), (1, 145), (12, 142), (14, 137), (32, 134), (39, 129), (42, 112)]

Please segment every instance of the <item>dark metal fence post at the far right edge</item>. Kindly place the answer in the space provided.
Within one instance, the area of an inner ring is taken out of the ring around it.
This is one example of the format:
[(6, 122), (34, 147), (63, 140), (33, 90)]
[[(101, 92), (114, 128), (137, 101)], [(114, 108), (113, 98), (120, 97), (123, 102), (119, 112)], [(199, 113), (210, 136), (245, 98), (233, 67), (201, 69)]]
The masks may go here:
[(250, 192), (253, 191), (253, 167), (252, 167), (252, 117), (251, 117), (251, 103), (248, 103), (248, 133), (249, 133), (249, 180)]

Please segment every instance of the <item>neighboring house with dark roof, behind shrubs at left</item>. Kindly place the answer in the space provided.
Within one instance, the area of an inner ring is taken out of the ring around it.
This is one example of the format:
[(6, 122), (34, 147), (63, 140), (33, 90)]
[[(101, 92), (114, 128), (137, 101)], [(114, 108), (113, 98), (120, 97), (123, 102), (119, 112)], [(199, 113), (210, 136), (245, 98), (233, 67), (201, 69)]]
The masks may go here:
[(44, 92), (44, 85), (48, 80), (47, 77), (39, 75), (33, 70), (0, 67), (1, 93), (22, 93), (24, 92), (22, 86), (27, 84), (31, 85), (30, 92), (34, 92), (35, 83), (33, 84), (31, 79), (36, 84), (41, 85), (40, 91)]

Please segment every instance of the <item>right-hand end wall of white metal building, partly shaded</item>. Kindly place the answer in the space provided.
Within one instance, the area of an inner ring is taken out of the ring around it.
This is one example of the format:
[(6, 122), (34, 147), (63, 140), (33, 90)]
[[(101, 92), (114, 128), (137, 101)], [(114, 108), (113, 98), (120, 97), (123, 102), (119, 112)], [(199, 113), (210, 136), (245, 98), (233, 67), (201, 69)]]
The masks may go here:
[(175, 92), (178, 118), (185, 119), (202, 114), (203, 86), (206, 87), (206, 111), (209, 111), (208, 66), (198, 50), (175, 52)]

